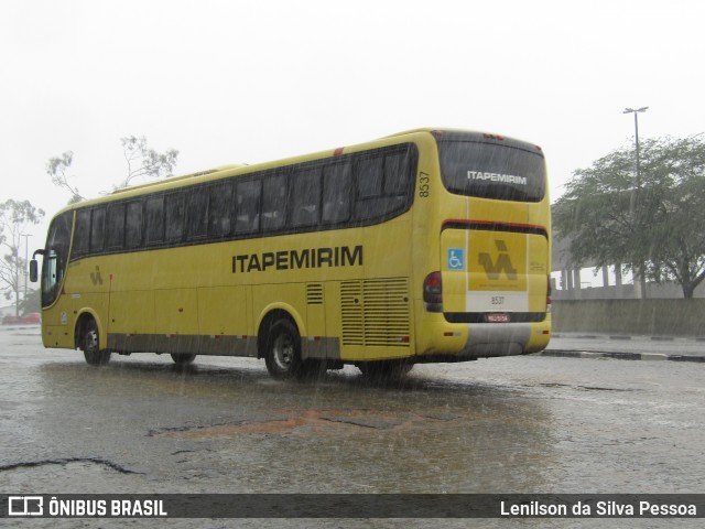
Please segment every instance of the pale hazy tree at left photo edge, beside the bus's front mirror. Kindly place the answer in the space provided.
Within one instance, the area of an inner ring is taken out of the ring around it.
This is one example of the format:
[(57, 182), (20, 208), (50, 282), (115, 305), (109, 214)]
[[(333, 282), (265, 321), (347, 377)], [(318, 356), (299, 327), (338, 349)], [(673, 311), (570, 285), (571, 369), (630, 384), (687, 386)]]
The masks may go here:
[(15, 316), (20, 315), (21, 291), (24, 287), (22, 280), (28, 267), (26, 259), (20, 256), (22, 237), (31, 225), (39, 224), (43, 217), (44, 212), (29, 201), (9, 199), (0, 204), (0, 246), (7, 251), (0, 260), (0, 289), (6, 299), (14, 296)]

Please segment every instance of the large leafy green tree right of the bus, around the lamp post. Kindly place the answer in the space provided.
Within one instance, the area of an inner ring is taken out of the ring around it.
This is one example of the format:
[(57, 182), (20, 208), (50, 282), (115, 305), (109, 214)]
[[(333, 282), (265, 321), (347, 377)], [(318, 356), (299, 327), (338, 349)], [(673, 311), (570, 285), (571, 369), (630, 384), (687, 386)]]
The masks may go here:
[(575, 171), (553, 207), (556, 236), (578, 263), (623, 263), (692, 298), (705, 279), (705, 142), (647, 140), (640, 159), (638, 179), (631, 149)]

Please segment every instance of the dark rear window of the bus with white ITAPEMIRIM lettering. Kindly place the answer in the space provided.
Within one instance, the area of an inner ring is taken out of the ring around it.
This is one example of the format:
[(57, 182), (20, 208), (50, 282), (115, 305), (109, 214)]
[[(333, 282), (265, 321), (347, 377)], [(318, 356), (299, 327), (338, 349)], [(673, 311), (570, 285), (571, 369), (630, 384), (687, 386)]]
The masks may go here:
[(480, 141), (438, 141), (443, 184), (458, 195), (540, 202), (545, 163), (539, 151)]

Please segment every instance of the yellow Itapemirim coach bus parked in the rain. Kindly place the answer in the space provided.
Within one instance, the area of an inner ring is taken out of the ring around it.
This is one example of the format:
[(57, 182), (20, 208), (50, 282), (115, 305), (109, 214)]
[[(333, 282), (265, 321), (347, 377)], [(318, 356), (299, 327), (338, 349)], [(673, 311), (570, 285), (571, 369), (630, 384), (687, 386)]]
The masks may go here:
[(542, 150), (419, 129), (119, 190), (59, 212), (41, 270), (45, 347), (263, 358), (274, 378), (543, 349)]

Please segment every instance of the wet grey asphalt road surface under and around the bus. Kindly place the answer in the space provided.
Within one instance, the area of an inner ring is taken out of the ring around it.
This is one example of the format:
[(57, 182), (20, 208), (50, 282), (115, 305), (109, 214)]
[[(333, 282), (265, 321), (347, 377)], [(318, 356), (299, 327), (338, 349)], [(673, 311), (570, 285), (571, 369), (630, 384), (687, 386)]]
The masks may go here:
[[(197, 358), (182, 371), (166, 355), (113, 355), (97, 369), (79, 352), (44, 349), (35, 327), (4, 327), (0, 483), (8, 494), (702, 493), (704, 404), (705, 364), (530, 356), (416, 366), (386, 387), (354, 367), (317, 384), (280, 382), (262, 361), (241, 358)], [(262, 525), (196, 522), (163, 521)], [(512, 522), (671, 527), (643, 519)], [(23, 527), (154, 523), (25, 520)]]

